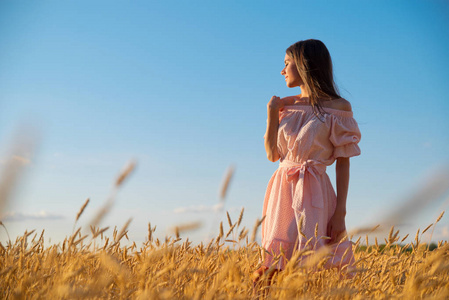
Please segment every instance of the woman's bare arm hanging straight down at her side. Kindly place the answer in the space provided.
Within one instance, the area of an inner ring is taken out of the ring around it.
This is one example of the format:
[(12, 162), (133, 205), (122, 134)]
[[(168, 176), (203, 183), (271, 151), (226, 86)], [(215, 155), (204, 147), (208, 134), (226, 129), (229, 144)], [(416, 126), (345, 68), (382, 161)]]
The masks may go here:
[(337, 176), (337, 208), (327, 225), (327, 234), (331, 237), (329, 243), (338, 243), (346, 235), (346, 197), (349, 187), (349, 158), (337, 158), (335, 166)]

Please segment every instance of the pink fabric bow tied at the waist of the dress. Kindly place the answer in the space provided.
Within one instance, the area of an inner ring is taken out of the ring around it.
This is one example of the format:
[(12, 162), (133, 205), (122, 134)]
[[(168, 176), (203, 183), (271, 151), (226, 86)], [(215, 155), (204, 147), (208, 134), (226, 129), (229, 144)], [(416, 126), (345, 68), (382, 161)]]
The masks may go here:
[[(326, 172), (326, 165), (312, 159), (299, 163), (283, 160), (279, 163), (279, 168), (287, 168), (287, 181), (297, 179), (292, 201), (294, 210), (301, 210), (302, 204), (307, 200), (310, 200), (313, 207), (324, 207), (319, 176)], [(310, 190), (304, 193), (306, 185)]]

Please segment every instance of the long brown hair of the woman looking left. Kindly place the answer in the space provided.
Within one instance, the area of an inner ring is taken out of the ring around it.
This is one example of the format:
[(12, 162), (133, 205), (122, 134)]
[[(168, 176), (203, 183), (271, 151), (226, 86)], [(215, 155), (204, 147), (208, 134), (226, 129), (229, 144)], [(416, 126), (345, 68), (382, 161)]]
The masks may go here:
[(315, 112), (323, 113), (320, 99), (340, 98), (334, 82), (332, 59), (323, 42), (299, 41), (287, 48), (286, 53), (296, 64), (299, 76), (309, 94), (310, 105)]

